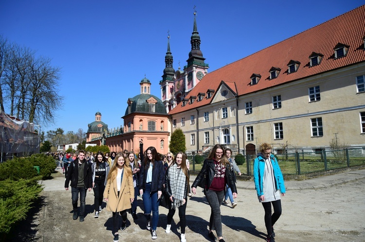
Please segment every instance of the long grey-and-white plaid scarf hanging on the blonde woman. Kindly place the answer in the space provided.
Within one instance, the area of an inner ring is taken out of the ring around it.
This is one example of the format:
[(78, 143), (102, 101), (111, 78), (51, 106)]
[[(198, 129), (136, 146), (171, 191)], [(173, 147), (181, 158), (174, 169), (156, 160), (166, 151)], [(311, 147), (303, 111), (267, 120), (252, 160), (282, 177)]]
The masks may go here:
[(172, 209), (182, 206), (185, 197), (186, 176), (185, 173), (177, 167), (177, 164), (174, 164), (168, 169), (170, 190), (175, 198), (175, 202), (171, 203)]

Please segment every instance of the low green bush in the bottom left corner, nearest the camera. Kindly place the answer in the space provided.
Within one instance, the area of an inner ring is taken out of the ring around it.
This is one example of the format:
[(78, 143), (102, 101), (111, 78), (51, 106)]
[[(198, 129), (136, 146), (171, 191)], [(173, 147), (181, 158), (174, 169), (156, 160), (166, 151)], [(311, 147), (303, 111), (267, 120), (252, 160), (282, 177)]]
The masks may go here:
[(15, 223), (26, 218), (41, 191), (36, 178), (0, 181), (0, 241), (6, 240)]

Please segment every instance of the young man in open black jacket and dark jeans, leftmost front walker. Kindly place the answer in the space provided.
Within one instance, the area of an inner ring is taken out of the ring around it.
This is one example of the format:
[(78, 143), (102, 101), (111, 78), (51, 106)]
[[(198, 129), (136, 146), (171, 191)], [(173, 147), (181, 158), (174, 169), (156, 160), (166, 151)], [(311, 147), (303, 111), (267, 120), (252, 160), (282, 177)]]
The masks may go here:
[(86, 190), (92, 188), (91, 163), (85, 159), (85, 151), (79, 151), (78, 158), (69, 167), (65, 181), (65, 189), (69, 190), (71, 181), (71, 194), (73, 206), (73, 220), (77, 219), (77, 201), (80, 193), (80, 222), (84, 221)]

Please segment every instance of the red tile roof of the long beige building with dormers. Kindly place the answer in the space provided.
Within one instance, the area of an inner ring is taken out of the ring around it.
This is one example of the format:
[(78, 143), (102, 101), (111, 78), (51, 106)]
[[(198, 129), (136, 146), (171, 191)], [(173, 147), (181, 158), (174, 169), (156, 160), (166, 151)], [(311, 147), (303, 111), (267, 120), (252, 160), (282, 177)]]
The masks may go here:
[[(186, 98), (206, 92), (207, 88), (217, 91), (221, 81), (236, 82), (238, 95), (245, 95), (364, 62), (364, 36), (365, 5), (206, 74)], [(333, 49), (338, 43), (349, 46), (349, 50), (345, 57), (335, 59)], [(323, 59), (319, 65), (310, 67), (309, 56), (312, 52), (323, 54)], [(287, 64), (291, 60), (301, 64), (296, 72), (288, 74)], [(280, 68), (281, 71), (277, 78), (270, 80), (269, 70), (272, 67)], [(250, 77), (254, 73), (260, 74), (261, 79), (256, 85), (250, 86)], [(236, 92), (232, 85), (229, 86)], [(194, 101), (193, 104), (185, 106), (180, 103), (169, 114), (207, 105), (212, 100), (213, 97), (203, 98), (200, 102)]]

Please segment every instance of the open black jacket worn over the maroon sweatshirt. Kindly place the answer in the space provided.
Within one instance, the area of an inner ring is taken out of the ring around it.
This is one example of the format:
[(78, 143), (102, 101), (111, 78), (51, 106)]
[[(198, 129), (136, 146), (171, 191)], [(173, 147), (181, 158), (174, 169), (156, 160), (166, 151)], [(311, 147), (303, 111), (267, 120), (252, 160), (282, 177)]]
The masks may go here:
[[(203, 163), (203, 167), (201, 168), (200, 173), (197, 175), (197, 178), (195, 178), (195, 181), (193, 182), (193, 185), (191, 185), (192, 188), (198, 187), (198, 184), (201, 182), (202, 179), (204, 179), (205, 175), (205, 185), (206, 188), (209, 189), (210, 185), (212, 184), (214, 175), (216, 174), (216, 166), (214, 165), (214, 161), (210, 159), (205, 159)], [(236, 183), (234, 180), (234, 176), (231, 172), (230, 166), (226, 165), (226, 175), (225, 180), (228, 185), (228, 187), (231, 188), (232, 193), (236, 192)], [(225, 190), (225, 188), (224, 188)]]

